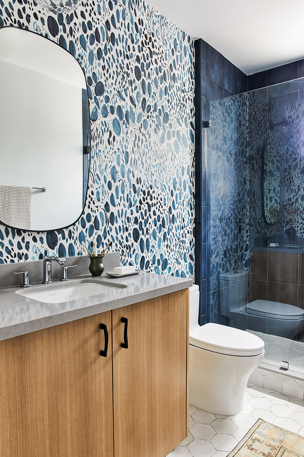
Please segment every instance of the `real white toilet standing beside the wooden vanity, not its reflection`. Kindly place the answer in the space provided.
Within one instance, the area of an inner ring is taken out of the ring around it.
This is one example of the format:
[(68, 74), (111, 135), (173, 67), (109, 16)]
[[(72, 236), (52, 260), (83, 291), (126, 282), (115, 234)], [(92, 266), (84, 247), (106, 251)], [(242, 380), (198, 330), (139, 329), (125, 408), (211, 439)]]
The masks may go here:
[(241, 411), (250, 374), (260, 365), (264, 342), (243, 330), (202, 325), (199, 286), (190, 288), (189, 403), (215, 414)]

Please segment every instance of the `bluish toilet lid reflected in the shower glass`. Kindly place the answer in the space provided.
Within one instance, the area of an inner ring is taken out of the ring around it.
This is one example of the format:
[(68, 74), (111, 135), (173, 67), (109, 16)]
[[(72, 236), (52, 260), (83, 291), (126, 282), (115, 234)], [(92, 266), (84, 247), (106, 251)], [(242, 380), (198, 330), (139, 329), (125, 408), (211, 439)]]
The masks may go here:
[(247, 313), (271, 319), (298, 320), (304, 318), (304, 309), (287, 303), (255, 300), (247, 305)]

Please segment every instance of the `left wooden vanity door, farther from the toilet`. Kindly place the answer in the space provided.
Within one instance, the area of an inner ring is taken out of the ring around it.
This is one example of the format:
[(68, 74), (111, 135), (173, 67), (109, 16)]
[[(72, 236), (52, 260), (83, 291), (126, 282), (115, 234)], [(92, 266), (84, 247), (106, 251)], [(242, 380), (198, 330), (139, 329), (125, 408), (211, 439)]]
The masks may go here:
[(0, 341), (0, 364), (1, 457), (113, 455), (110, 311)]

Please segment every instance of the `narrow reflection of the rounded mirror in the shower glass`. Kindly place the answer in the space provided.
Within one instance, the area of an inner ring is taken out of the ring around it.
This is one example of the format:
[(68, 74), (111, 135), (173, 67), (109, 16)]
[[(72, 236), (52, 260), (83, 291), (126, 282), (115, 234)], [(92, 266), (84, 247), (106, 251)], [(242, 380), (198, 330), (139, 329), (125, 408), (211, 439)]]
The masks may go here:
[(278, 149), (273, 144), (264, 148), (262, 160), (262, 207), (263, 217), (275, 224), (279, 217), (281, 194), (281, 168)]

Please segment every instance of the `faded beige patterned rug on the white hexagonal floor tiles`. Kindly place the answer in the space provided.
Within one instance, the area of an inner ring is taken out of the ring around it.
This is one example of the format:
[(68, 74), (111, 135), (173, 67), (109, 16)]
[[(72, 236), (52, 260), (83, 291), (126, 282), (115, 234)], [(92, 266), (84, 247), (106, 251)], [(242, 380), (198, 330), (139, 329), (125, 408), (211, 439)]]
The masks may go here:
[(304, 457), (304, 437), (258, 419), (227, 457)]

